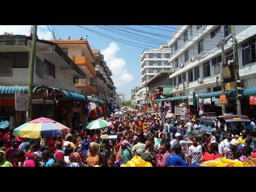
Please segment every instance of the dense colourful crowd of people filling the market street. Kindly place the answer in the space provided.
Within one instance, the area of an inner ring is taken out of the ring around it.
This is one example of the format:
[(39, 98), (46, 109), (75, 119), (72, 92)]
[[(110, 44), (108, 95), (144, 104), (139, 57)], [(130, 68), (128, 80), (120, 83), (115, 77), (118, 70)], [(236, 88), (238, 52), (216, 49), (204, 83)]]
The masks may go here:
[[(87, 130), (82, 124), (66, 136), (20, 138), (8, 128), (0, 129), (1, 167), (81, 166), (203, 166), (224, 163), (256, 166), (256, 131), (241, 134), (200, 131), (193, 120), (165, 118), (160, 114), (137, 116), (128, 112), (102, 117), (109, 127)], [(199, 136), (189, 136), (193, 130)], [(108, 139), (109, 135), (116, 135)], [(216, 160), (211, 162), (212, 160)], [(218, 161), (217, 161), (218, 160)]]

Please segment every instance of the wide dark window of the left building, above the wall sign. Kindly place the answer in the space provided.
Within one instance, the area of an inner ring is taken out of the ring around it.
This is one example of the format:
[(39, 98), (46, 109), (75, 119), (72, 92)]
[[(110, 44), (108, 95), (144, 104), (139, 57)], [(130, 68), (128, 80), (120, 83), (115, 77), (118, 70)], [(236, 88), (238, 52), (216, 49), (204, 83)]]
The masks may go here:
[(0, 52), (0, 58), (13, 59), (13, 68), (28, 68), (28, 52)]

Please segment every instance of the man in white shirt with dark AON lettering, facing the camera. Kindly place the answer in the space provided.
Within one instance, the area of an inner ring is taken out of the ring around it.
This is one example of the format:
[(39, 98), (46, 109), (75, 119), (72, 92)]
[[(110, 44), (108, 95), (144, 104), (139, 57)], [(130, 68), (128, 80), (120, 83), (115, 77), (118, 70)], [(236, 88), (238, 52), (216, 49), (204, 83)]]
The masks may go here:
[(190, 163), (201, 164), (203, 159), (202, 146), (198, 144), (196, 137), (192, 139), (193, 145), (188, 148), (188, 156), (190, 157)]

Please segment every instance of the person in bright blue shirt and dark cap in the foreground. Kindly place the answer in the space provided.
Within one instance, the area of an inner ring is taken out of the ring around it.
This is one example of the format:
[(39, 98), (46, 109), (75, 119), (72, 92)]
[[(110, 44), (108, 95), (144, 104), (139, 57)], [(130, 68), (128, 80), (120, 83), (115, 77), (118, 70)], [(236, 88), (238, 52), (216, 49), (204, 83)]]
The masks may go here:
[(170, 167), (170, 166), (186, 166), (186, 165), (188, 165), (188, 163), (186, 161), (184, 161), (184, 159), (182, 159), (180, 156), (178, 156), (178, 154), (180, 154), (181, 150), (182, 150), (182, 147), (180, 146), (180, 144), (177, 143), (173, 146), (172, 154), (170, 154), (167, 157), (166, 166)]

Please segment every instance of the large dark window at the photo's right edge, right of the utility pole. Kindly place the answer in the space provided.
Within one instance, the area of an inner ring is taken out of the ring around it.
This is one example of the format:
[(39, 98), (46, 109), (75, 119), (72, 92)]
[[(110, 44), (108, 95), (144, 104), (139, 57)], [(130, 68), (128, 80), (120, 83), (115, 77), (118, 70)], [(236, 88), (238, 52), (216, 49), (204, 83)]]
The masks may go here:
[(242, 44), (243, 65), (256, 61), (255, 42)]

